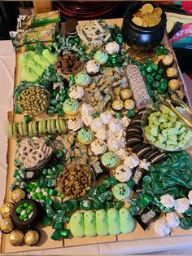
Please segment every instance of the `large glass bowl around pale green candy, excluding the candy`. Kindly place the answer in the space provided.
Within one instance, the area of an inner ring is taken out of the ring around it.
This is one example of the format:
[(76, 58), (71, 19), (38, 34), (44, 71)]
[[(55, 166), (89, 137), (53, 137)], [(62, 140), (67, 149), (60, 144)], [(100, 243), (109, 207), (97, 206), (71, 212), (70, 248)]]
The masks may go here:
[[(174, 104), (174, 107), (181, 107), (177, 104), (177, 102), (172, 101), (172, 104)], [(154, 145), (156, 148), (160, 148), (160, 149), (163, 149), (164, 151), (168, 151), (168, 152), (177, 152), (177, 151), (181, 151), (181, 150), (185, 150), (187, 148), (190, 148), (192, 146), (192, 139), (190, 139), (187, 143), (185, 143), (185, 146), (183, 148), (176, 148), (174, 150), (171, 150), (171, 149), (167, 148), (166, 145), (164, 145), (164, 147), (160, 147), (159, 145), (156, 145), (156, 143), (151, 141), (151, 139), (147, 136), (146, 126), (148, 126), (148, 124), (149, 124), (148, 117), (151, 115), (151, 113), (161, 111), (162, 107), (164, 107), (163, 104), (160, 104), (159, 102), (156, 102), (155, 104), (152, 104), (151, 106), (146, 108), (145, 113), (143, 113), (143, 115), (142, 115), (142, 132), (143, 132), (143, 135), (145, 136), (145, 138), (149, 141), (149, 143)], [(190, 115), (188, 113), (186, 113), (185, 111), (183, 111), (182, 115), (184, 117), (186, 117), (187, 119), (189, 119), (190, 121), (192, 120)], [(186, 131), (191, 130), (189, 126), (185, 125), (185, 127), (186, 127)]]

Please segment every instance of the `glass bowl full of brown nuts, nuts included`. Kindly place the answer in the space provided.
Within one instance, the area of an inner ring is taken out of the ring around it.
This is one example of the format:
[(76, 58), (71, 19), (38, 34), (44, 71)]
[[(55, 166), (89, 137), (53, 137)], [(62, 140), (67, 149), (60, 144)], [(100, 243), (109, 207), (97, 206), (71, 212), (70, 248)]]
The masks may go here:
[(80, 200), (89, 196), (94, 189), (95, 174), (85, 164), (69, 164), (64, 166), (56, 179), (57, 190), (66, 199)]

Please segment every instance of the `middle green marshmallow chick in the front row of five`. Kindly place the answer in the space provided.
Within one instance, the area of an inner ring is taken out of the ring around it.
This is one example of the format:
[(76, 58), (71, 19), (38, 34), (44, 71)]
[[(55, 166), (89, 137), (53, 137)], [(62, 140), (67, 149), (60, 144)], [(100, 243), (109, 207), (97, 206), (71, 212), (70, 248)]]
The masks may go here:
[(96, 232), (98, 236), (107, 236), (109, 231), (107, 227), (107, 212), (97, 210), (95, 212)]

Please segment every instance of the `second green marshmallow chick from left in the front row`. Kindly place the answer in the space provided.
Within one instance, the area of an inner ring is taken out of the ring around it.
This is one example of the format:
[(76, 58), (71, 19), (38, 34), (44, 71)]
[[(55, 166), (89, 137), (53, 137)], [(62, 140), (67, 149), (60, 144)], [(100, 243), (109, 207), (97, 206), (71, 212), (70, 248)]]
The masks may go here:
[(97, 236), (95, 215), (93, 210), (87, 210), (84, 214), (85, 236)]

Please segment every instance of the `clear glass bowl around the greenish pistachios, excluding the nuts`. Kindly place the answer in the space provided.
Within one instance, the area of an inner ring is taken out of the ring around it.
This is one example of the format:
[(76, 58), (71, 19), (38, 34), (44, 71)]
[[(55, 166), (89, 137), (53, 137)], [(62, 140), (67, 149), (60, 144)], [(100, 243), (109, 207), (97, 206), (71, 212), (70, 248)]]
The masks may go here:
[[(41, 111), (39, 111), (39, 112), (37, 112), (37, 113), (31, 113), (31, 112), (29, 112), (28, 110), (21, 111), (21, 110), (20, 110), (20, 107), (19, 107), (18, 97), (20, 96), (20, 94), (22, 93), (22, 91), (24, 91), (24, 90), (26, 90), (26, 89), (28, 89), (28, 88), (31, 88), (31, 87), (35, 87), (35, 88), (39, 87), (39, 88), (41, 88), (41, 90), (44, 91), (44, 93), (45, 93), (45, 95), (46, 95), (46, 99), (47, 99), (47, 104), (46, 104), (45, 108), (41, 109)], [(44, 111), (46, 110), (46, 108), (48, 108), (48, 106), (50, 105), (50, 92), (49, 92), (49, 90), (46, 90), (45, 87), (39, 86), (39, 85), (38, 85), (38, 86), (34, 86), (34, 85), (23, 86), (23, 87), (21, 87), (21, 88), (16, 92), (16, 94), (15, 94), (15, 99), (14, 99), (14, 104), (15, 104), (15, 108), (17, 108), (17, 109), (20, 110), (20, 113), (22, 113), (22, 114), (29, 114), (29, 115), (31, 115), (31, 116), (37, 116), (38, 114), (44, 112)]]

